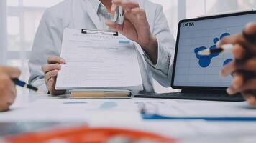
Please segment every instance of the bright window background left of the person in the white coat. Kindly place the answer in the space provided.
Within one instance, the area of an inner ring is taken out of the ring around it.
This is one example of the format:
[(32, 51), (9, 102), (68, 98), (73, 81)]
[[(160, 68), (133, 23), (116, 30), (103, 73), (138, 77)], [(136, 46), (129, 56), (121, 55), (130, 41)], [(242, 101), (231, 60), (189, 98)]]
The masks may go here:
[[(22, 70), (20, 79), (28, 81), (27, 63), (43, 12), (47, 7), (60, 1), (63, 0), (6, 0), (5, 62)], [(19, 88), (19, 92), (27, 92), (27, 90)]]

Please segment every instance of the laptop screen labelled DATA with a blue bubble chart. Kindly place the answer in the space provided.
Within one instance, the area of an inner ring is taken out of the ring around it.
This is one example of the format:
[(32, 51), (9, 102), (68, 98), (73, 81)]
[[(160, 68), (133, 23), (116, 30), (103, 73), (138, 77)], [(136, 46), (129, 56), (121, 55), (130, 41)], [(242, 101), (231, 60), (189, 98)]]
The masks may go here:
[(232, 76), (222, 78), (219, 73), (233, 60), (232, 54), (200, 56), (198, 52), (215, 49), (220, 39), (241, 33), (252, 21), (255, 11), (180, 21), (172, 87), (229, 87)]

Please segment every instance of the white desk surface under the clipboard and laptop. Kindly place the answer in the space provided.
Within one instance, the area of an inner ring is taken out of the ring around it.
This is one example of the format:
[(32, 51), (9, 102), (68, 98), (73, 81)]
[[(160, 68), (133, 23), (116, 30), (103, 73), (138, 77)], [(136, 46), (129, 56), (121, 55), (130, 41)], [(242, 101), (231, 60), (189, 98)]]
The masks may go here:
[[(90, 127), (123, 127), (128, 129), (140, 129), (155, 132), (167, 137), (182, 139), (184, 142), (232, 142), (250, 141), (256, 137), (256, 122), (206, 122), (206, 121), (145, 121), (140, 117), (138, 109), (131, 107), (127, 109), (125, 102), (131, 101), (157, 101), (165, 100), (186, 103), (202, 103), (204, 101), (171, 100), (171, 99), (122, 99), (120, 102), (124, 107), (118, 109), (88, 109), (86, 104), (97, 104), (97, 102), (112, 102), (112, 100), (83, 100), (77, 104), (69, 104), (71, 100), (61, 97), (49, 97), (47, 95), (18, 95), (17, 100), (9, 112), (0, 113), (0, 122), (21, 121), (61, 121), (61, 122), (86, 122)], [(61, 102), (60, 102), (61, 101)], [(78, 100), (72, 100), (76, 102)], [(80, 100), (79, 100), (80, 101)], [(63, 105), (63, 102), (66, 104)], [(43, 104), (42, 103), (47, 103)], [(206, 103), (206, 102), (204, 102)], [(219, 102), (207, 102), (219, 103)], [(225, 102), (238, 107), (247, 107), (247, 103)], [(69, 105), (68, 105), (69, 104)], [(43, 107), (42, 107), (43, 106)], [(256, 112), (256, 110), (255, 110)], [(214, 139), (212, 139), (214, 137)], [(242, 140), (241, 140), (242, 139)]]

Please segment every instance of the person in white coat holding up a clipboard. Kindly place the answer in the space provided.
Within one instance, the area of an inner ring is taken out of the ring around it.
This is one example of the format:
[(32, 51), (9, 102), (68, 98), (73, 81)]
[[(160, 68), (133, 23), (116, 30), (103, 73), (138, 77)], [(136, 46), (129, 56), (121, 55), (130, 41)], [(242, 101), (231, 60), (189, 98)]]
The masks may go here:
[[(123, 6), (124, 24), (107, 21), (99, 9), (102, 6), (111, 14), (116, 6)], [(170, 87), (175, 41), (162, 6), (148, 0), (65, 0), (47, 9), (29, 59), (29, 83), (55, 95), (65, 93), (55, 90), (60, 64), (65, 64), (65, 59), (59, 57), (65, 28), (119, 31), (137, 42), (144, 87), (140, 93), (154, 92), (152, 79)]]

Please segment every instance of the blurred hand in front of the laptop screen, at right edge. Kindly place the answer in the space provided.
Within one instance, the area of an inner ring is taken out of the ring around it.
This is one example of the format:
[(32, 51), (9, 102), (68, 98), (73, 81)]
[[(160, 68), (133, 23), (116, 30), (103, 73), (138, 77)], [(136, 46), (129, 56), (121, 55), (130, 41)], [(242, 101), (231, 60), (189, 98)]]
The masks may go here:
[[(229, 46), (227, 46), (229, 44)], [(232, 48), (230, 48), (232, 44)], [(256, 23), (247, 24), (242, 34), (228, 36), (217, 45), (222, 51), (231, 51), (234, 61), (224, 66), (221, 76), (233, 74), (229, 94), (242, 92), (251, 106), (256, 105)], [(224, 46), (224, 48), (223, 48)], [(225, 48), (226, 46), (226, 48)], [(229, 48), (228, 48), (229, 47)]]

